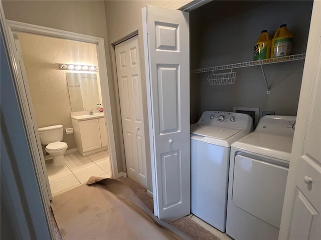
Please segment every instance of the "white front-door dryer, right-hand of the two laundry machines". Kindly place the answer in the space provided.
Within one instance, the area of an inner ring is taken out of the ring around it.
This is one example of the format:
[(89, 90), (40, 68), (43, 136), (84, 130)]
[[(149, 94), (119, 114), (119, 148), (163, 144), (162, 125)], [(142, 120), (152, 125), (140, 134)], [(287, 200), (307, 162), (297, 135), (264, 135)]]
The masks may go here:
[(277, 239), (295, 116), (263, 116), (231, 146), (226, 233), (234, 239)]

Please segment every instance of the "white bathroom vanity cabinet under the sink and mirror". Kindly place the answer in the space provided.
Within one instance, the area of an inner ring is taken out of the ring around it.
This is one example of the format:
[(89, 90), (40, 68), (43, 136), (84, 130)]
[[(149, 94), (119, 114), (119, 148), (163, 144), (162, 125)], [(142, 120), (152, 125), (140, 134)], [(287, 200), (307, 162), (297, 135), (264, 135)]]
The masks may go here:
[(102, 115), (73, 116), (77, 151), (83, 156), (108, 148), (105, 118)]

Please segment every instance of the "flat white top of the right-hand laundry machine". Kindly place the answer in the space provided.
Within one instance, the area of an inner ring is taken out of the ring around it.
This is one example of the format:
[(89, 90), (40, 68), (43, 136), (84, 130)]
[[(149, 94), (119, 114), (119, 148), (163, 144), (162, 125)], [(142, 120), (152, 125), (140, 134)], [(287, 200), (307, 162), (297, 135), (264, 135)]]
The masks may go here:
[(289, 161), (293, 137), (254, 131), (231, 146)]

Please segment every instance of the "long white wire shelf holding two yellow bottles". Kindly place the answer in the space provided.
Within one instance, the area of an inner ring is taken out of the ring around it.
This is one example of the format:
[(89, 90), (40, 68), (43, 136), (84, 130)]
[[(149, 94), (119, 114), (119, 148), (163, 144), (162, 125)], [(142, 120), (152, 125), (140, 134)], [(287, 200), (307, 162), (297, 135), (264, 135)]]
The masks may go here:
[(256, 61), (245, 61), (221, 66), (212, 66), (206, 68), (199, 68), (191, 70), (191, 73), (200, 73), (200, 72), (209, 72), (209, 71), (217, 71), (217, 70), (226, 70), (226, 69), (233, 69), (233, 68), (240, 68), (240, 67), (247, 67), (247, 66), (256, 66), (256, 65), (264, 65), (270, 63), (277, 63), (277, 62), (285, 62), (285, 61), (294, 61), (294, 60), (301, 60), (305, 58), (305, 53), (295, 54), (295, 55), (288, 55), (288, 56), (280, 56)]

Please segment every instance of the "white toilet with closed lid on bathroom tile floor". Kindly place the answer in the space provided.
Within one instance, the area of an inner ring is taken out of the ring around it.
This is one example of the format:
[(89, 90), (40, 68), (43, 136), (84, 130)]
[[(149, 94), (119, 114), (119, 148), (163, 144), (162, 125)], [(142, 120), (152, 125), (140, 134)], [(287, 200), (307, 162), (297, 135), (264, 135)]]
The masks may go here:
[(54, 157), (53, 166), (62, 166), (67, 163), (65, 152), (67, 143), (61, 141), (64, 136), (62, 125), (45, 126), (38, 128), (41, 144), (46, 145), (46, 152)]

